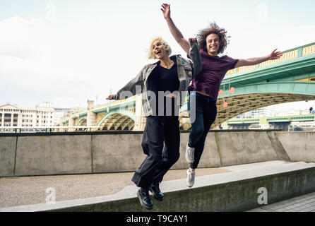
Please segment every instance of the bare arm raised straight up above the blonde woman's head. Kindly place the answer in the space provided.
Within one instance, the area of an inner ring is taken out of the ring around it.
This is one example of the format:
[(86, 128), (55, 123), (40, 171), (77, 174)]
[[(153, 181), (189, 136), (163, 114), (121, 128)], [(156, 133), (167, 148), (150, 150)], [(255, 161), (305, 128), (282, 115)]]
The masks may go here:
[(184, 52), (189, 55), (189, 42), (184, 39), (182, 32), (180, 32), (180, 30), (176, 27), (171, 18), (170, 4), (162, 4), (161, 11), (163, 12), (163, 16), (167, 22), (168, 27), (170, 28), (170, 32), (172, 33), (174, 39), (178, 42), (182, 49), (184, 49)]

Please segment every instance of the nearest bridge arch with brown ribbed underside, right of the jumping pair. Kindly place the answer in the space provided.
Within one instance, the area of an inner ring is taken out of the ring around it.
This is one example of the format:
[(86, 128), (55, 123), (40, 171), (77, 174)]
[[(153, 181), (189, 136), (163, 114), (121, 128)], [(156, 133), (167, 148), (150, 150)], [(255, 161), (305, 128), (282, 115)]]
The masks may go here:
[[(315, 100), (315, 83), (273, 82), (239, 86), (235, 88), (233, 95), (225, 94), (218, 97), (218, 114), (211, 129), (215, 129), (215, 127), (239, 114), (254, 109), (306, 100)], [(222, 105), (225, 101), (228, 105), (226, 108), (223, 108)], [(188, 114), (186, 114), (187, 117)], [(187, 119), (183, 117), (182, 121), (184, 120)], [(185, 124), (185, 126), (181, 128), (191, 128), (190, 124)]]

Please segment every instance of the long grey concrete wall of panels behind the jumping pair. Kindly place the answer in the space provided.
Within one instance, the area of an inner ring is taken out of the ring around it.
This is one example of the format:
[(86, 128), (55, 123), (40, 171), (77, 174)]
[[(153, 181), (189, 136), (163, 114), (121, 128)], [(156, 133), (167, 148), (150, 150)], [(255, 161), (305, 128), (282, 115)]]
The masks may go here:
[[(172, 169), (185, 169), (186, 142)], [(133, 172), (143, 162), (141, 133), (0, 136), (0, 177)], [(314, 132), (211, 131), (198, 167), (271, 160), (315, 162)]]

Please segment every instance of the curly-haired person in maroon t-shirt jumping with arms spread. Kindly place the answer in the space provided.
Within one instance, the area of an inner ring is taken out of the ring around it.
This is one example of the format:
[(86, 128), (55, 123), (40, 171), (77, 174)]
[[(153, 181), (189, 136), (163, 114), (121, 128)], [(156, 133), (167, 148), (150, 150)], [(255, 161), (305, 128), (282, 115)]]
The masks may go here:
[[(182, 32), (174, 25), (170, 16), (170, 5), (162, 4), (161, 10), (174, 39), (188, 54), (189, 42), (184, 39)], [(201, 159), (210, 126), (217, 115), (216, 101), (225, 73), (239, 66), (260, 64), (263, 61), (278, 59), (282, 56), (282, 53), (275, 52), (275, 49), (266, 57), (249, 59), (232, 59), (227, 55), (219, 57), (218, 54), (222, 54), (227, 47), (226, 34), (224, 28), (220, 28), (216, 23), (210, 23), (207, 28), (199, 30), (197, 35), (202, 59), (202, 71), (192, 81), (191, 88), (193, 92), (191, 92), (189, 98), (190, 107), (195, 107), (190, 111), (196, 111), (194, 120), (191, 121), (189, 142), (186, 145), (186, 160), (190, 163), (190, 167), (186, 172), (186, 185), (189, 187), (194, 186), (195, 169)], [(194, 98), (191, 98), (192, 96)]]

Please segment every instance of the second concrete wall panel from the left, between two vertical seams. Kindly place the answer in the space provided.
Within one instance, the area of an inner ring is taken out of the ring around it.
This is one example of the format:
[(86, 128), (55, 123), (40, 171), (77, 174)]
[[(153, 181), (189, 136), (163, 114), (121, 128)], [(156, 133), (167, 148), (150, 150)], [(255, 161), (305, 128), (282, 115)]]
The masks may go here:
[(14, 176), (92, 172), (91, 136), (20, 136)]

